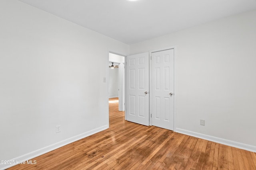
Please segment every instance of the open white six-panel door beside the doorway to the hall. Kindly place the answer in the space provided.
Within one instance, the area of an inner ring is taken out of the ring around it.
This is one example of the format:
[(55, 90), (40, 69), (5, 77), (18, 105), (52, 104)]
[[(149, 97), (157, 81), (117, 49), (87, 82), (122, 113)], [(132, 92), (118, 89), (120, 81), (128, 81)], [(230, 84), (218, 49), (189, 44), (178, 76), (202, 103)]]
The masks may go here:
[(149, 125), (149, 53), (126, 57), (126, 119)]

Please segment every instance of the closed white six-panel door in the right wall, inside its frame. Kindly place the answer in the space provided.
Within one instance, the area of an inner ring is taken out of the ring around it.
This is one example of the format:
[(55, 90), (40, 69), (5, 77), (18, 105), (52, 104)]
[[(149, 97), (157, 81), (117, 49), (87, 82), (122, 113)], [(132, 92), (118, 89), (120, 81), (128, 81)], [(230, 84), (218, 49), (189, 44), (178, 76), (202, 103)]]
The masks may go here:
[(151, 123), (174, 129), (174, 49), (152, 53)]

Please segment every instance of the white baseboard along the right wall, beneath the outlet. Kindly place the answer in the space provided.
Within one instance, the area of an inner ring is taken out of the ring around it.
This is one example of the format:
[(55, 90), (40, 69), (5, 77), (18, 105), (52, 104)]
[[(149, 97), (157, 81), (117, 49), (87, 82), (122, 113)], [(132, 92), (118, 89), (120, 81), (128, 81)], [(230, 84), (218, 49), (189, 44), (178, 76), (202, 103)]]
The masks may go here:
[(180, 129), (180, 128), (176, 128), (176, 132), (177, 133), (182, 133), (184, 135), (189, 135), (189, 136), (192, 136), (192, 137), (197, 137), (197, 138), (200, 138), (200, 139), (205, 139), (207, 141), (220, 143), (220, 144), (227, 145), (227, 146), (230, 146), (230, 147), (235, 147), (235, 148), (239, 148), (239, 149), (243, 149), (243, 150), (248, 150), (248, 151), (251, 151), (251, 152), (256, 152), (256, 146), (253, 146), (253, 145), (247, 145), (247, 144), (244, 144), (244, 143), (230, 141), (230, 140), (227, 140), (227, 139), (213, 137), (213, 136), (210, 136), (210, 135), (204, 135), (202, 133), (187, 131), (187, 130)]

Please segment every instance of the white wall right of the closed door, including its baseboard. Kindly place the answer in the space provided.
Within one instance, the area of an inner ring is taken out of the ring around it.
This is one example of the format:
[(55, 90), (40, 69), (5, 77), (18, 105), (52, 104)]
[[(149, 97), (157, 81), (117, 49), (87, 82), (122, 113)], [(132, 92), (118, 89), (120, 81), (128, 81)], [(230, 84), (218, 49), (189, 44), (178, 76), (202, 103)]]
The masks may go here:
[(176, 45), (176, 131), (256, 151), (255, 19), (256, 10), (130, 46), (132, 55)]

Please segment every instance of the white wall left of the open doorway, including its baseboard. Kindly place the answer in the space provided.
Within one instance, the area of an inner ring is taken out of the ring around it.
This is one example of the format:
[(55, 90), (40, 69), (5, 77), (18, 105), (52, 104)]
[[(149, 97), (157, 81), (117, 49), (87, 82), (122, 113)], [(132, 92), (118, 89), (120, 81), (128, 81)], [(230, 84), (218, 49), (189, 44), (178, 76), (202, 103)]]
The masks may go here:
[(17, 0), (0, 1), (0, 25), (0, 160), (108, 128), (108, 52), (128, 45)]

